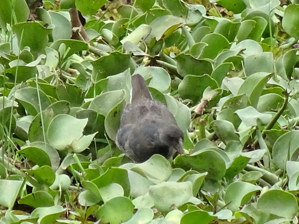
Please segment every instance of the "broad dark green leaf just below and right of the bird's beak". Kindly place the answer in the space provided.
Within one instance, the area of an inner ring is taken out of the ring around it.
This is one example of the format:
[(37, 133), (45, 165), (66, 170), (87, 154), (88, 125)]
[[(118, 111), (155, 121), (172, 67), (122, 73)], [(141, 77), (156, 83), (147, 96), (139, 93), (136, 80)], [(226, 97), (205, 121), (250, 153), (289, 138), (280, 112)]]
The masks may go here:
[(184, 170), (196, 170), (198, 172), (208, 172), (207, 178), (220, 180), (225, 175), (225, 160), (216, 151), (199, 151), (192, 155), (178, 155), (174, 160), (175, 167)]

